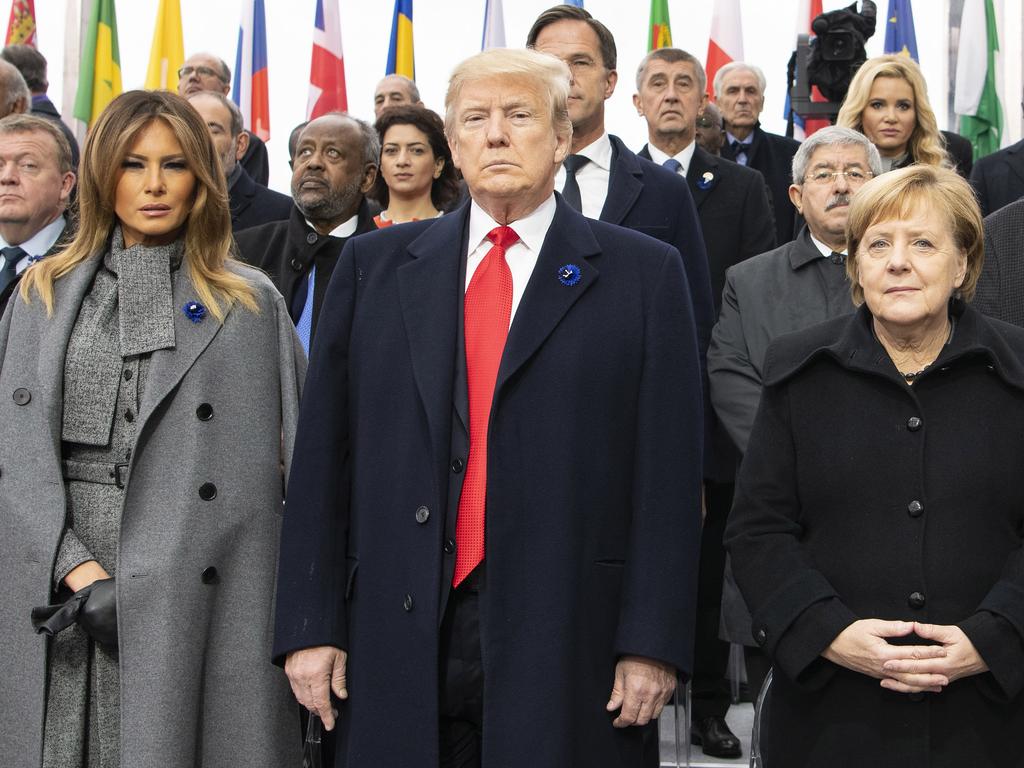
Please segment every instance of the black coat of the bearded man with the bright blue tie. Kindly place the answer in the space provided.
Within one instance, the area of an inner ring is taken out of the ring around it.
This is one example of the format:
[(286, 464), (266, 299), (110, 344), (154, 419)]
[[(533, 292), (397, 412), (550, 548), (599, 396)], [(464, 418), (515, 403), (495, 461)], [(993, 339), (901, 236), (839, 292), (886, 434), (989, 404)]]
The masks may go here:
[[(364, 200), (359, 206), (358, 226), (352, 237), (377, 228), (374, 224), (375, 213)], [(293, 322), (298, 321), (305, 304), (305, 278), (309, 274), (309, 268), (316, 265), (310, 341), (316, 335), (317, 318), (324, 306), (331, 274), (338, 263), (341, 249), (348, 240), (318, 234), (306, 223), (305, 217), (294, 205), (287, 220), (243, 229), (234, 236), (242, 260), (258, 266), (270, 275), (273, 285), (285, 297)]]

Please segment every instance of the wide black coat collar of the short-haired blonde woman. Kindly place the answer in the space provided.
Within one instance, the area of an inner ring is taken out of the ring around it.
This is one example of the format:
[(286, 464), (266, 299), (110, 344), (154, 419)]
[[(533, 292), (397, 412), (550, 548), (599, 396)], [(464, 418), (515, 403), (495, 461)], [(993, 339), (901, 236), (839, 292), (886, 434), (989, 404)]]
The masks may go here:
[[(949, 304), (950, 315), (955, 321), (952, 339), (939, 353), (935, 362), (922, 375), (923, 381), (940, 369), (981, 357), (1010, 386), (1024, 390), (1024, 337), (1016, 329), (1012, 336), (1001, 332), (1000, 326), (983, 316), (959, 299)], [(1006, 326), (1010, 328), (1009, 326)], [(861, 305), (848, 317), (817, 326), (818, 338), (809, 344), (785, 346), (772, 360), (766, 385), (778, 384), (790, 379), (820, 357), (830, 357), (849, 371), (859, 371), (881, 376), (895, 383), (902, 383), (899, 373), (876, 338), (871, 313)]]

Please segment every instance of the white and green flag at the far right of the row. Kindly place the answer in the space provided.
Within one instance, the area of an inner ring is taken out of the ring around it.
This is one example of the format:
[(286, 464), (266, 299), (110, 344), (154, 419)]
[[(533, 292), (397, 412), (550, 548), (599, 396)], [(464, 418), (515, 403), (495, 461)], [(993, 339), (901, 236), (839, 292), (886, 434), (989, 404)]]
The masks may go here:
[(967, 0), (961, 16), (953, 112), (961, 116), (959, 133), (971, 140), (974, 159), (999, 148), (1002, 108), (996, 90), (999, 39), (992, 0)]

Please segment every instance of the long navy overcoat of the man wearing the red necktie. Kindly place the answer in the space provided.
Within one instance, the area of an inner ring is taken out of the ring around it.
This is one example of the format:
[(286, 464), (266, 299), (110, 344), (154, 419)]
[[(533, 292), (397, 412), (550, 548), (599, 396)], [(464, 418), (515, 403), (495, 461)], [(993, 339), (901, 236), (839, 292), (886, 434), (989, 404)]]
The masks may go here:
[[(437, 755), (468, 211), (349, 242), (312, 347), (273, 652), (349, 651), (339, 766)], [(558, 280), (566, 264), (579, 283)], [(488, 425), (488, 764), (638, 766), (650, 729), (615, 729), (604, 712), (616, 657), (690, 668), (700, 379), (688, 295), (674, 248), (558, 201)], [(392, 720), (401, 738), (382, 726)]]

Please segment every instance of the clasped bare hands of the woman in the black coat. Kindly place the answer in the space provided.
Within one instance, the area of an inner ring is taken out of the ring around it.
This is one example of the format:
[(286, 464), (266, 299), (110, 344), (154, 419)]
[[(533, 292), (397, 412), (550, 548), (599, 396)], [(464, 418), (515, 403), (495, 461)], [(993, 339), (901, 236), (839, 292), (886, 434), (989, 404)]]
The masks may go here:
[[(936, 645), (893, 645), (915, 634)], [(881, 680), (898, 693), (939, 693), (954, 680), (988, 671), (964, 631), (953, 625), (862, 618), (843, 630), (821, 654), (848, 670)]]

